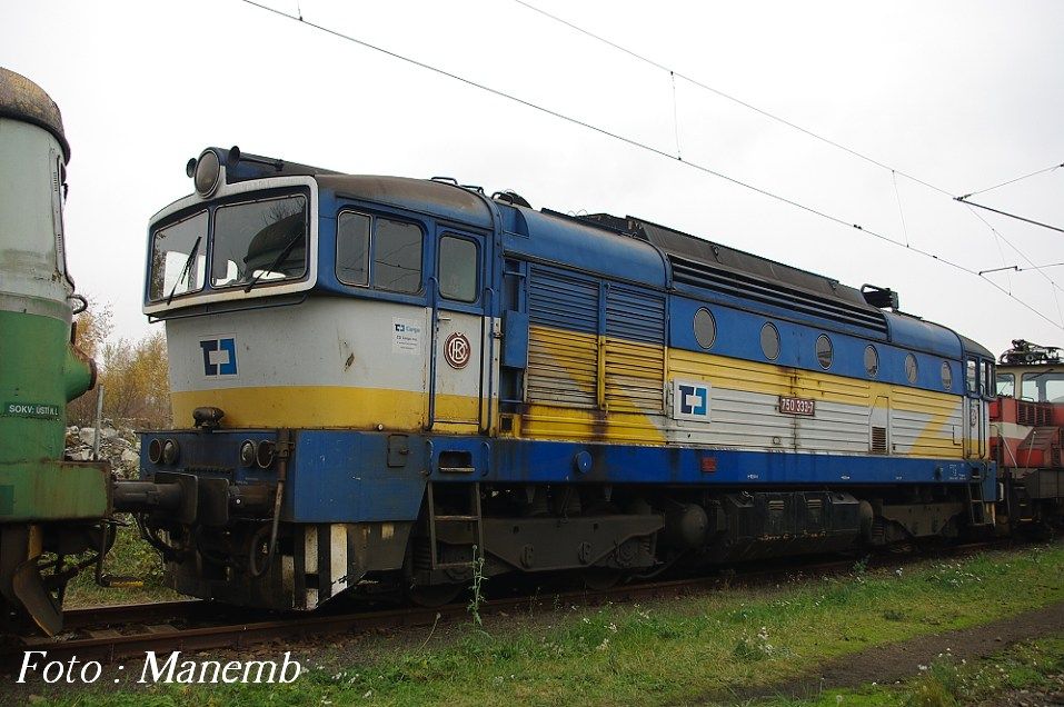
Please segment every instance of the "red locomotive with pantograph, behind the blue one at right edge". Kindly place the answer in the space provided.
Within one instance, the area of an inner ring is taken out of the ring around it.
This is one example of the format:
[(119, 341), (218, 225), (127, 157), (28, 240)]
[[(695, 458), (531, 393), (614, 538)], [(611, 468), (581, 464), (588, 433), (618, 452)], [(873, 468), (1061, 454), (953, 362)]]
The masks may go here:
[(1003, 487), (997, 521), (1048, 530), (1064, 510), (1064, 361), (1057, 347), (1012, 343), (998, 359), (990, 406), (991, 455)]

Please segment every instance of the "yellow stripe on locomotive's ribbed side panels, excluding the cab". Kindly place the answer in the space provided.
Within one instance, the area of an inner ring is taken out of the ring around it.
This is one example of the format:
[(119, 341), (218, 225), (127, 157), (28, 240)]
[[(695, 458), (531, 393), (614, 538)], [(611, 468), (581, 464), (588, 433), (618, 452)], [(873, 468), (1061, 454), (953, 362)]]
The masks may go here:
[[(801, 449), (831, 447), (835, 440), (825, 425), (847, 426), (851, 436), (866, 439), (869, 416), (882, 398), (891, 401), (902, 426), (897, 431), (904, 444), (897, 456), (958, 458), (962, 452), (953, 435), (962, 400), (955, 395), (546, 327), (530, 328), (529, 349), (533, 370), (530, 402), (520, 422), (524, 437), (660, 444), (667, 421), (660, 398), (652, 390), (664, 391), (666, 380), (686, 378), (709, 382), (714, 397), (760, 394), (832, 404), (831, 410), (818, 411), (823, 421), (818, 427), (774, 409), (746, 416), (749, 424), (794, 430)], [(620, 356), (609, 360), (610, 351)], [(706, 429), (712, 430), (713, 422)]]

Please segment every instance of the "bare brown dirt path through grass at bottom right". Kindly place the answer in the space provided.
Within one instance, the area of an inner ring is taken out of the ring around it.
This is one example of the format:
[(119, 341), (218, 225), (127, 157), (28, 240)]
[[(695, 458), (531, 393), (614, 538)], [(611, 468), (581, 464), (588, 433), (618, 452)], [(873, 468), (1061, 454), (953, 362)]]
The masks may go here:
[(877, 646), (829, 660), (794, 680), (706, 696), (708, 703), (736, 704), (769, 697), (814, 697), (824, 689), (857, 687), (866, 683), (889, 684), (911, 678), (921, 665), (939, 654), (956, 658), (985, 658), (1011, 644), (1031, 638), (1064, 635), (1064, 603), (1001, 619), (992, 624), (921, 636), (897, 644)]

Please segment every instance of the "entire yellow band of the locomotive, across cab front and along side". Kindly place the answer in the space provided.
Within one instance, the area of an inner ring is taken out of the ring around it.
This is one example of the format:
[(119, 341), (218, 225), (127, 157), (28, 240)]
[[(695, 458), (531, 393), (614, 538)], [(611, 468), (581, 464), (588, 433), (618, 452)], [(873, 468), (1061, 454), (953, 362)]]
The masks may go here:
[[(784, 368), (760, 361), (669, 349), (596, 335), (531, 327), (529, 364), (538, 366), (539, 379), (529, 380), (530, 402), (523, 409), (520, 436), (533, 439), (577, 439), (620, 444), (664, 444), (668, 420), (663, 410), (666, 380), (703, 380), (715, 397), (726, 392), (794, 396), (844, 405), (853, 412), (835, 412), (838, 425), (867, 425), (877, 398), (888, 398), (896, 422), (912, 438), (908, 449), (897, 456), (959, 458), (961, 446), (953, 441), (953, 424), (959, 396), (905, 388), (877, 381), (844, 378), (826, 372)], [(606, 364), (609, 364), (607, 367)], [(667, 376), (665, 369), (667, 367)], [(658, 372), (660, 371), (660, 374)], [(534, 378), (535, 376), (530, 376)], [(538, 385), (538, 388), (537, 388)], [(553, 389), (550, 386), (556, 386)], [(468, 434), (470, 425), (448, 425), (461, 419), (478, 398), (437, 396), (439, 431)], [(220, 388), (171, 395), (178, 426), (191, 424), (192, 410), (213, 406), (226, 412), (223, 427), (302, 427), (419, 430), (427, 417), (427, 395), (337, 386), (278, 386)], [(818, 415), (825, 415), (818, 410)], [(926, 417), (905, 418), (905, 414)], [(766, 410), (765, 427), (785, 428), (792, 416)], [(833, 422), (835, 420), (832, 420)], [(706, 427), (713, 429), (713, 422)], [(897, 429), (897, 432), (903, 431)], [(775, 432), (774, 432), (775, 434)], [(815, 434), (798, 435), (802, 448), (816, 449)]]

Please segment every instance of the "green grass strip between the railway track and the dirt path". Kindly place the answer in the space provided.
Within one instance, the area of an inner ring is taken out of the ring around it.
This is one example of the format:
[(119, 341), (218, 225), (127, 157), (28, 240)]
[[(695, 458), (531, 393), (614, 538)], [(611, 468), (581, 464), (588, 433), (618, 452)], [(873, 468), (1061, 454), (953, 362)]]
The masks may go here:
[(470, 623), (426, 641), (430, 646), (374, 648), (358, 658), (319, 648), (305, 664), (308, 671), (287, 686), (41, 691), (52, 704), (70, 706), (703, 704), (728, 689), (798, 677), (868, 646), (1064, 600), (1064, 549), (1057, 547), (904, 570), (855, 570), (848, 577), (730, 589), (652, 607), (561, 607), (546, 618), (485, 617), (483, 629)]

